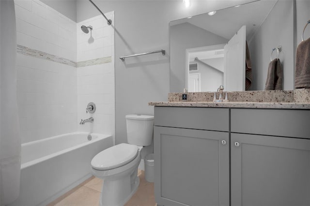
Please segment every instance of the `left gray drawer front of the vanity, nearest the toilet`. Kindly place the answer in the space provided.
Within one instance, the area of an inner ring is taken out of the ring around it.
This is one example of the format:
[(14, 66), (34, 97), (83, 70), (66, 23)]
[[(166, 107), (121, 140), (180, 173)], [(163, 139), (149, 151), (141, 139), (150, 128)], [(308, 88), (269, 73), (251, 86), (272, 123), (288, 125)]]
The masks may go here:
[(155, 106), (154, 114), (155, 126), (229, 131), (228, 108)]

